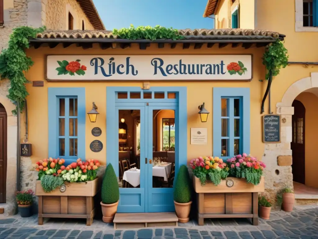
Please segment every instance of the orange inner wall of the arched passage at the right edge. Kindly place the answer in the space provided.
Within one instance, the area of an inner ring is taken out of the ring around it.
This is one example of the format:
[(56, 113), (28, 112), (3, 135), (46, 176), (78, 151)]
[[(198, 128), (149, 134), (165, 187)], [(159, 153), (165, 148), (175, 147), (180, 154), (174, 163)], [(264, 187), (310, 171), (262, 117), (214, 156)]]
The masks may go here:
[[(305, 184), (318, 188), (316, 168), (317, 162), (317, 105), (318, 97), (313, 93), (303, 92), (297, 98), (306, 109), (305, 113)], [(297, 159), (293, 159), (297, 160)], [(303, 160), (303, 159), (299, 159)]]

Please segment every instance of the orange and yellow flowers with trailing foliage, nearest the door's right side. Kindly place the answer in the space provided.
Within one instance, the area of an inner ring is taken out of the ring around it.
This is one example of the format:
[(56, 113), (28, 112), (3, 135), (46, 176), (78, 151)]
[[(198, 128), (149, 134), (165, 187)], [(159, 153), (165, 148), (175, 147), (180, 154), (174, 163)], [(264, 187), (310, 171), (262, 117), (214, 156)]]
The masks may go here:
[(190, 168), (193, 175), (200, 179), (201, 184), (205, 185), (207, 179), (215, 185), (221, 183), (229, 175), (229, 168), (222, 159), (218, 157), (199, 157), (190, 161)]

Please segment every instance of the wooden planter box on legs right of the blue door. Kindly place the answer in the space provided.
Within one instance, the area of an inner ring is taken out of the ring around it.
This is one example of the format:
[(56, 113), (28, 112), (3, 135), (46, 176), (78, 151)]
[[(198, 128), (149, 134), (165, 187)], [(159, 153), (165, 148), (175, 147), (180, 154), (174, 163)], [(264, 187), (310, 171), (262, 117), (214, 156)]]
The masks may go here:
[[(226, 182), (231, 180), (229, 187)], [(193, 176), (193, 186), (198, 196), (199, 226), (204, 225), (204, 218), (252, 218), (253, 225), (258, 225), (258, 193), (264, 192), (264, 177), (259, 185), (227, 177), (218, 186), (209, 181), (202, 186), (200, 179)]]

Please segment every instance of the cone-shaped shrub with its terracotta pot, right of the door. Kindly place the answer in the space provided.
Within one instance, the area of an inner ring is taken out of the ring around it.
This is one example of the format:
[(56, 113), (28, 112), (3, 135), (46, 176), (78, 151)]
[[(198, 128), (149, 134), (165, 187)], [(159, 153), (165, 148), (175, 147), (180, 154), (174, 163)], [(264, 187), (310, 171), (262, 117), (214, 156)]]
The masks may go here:
[(188, 222), (192, 201), (189, 171), (185, 165), (180, 167), (176, 178), (174, 202), (178, 221)]

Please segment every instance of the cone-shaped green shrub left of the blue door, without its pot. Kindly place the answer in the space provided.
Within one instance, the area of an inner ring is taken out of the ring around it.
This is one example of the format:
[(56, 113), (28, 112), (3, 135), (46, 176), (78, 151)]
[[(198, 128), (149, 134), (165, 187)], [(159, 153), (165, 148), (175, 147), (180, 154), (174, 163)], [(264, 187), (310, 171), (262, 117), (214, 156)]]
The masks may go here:
[(119, 200), (119, 187), (116, 173), (111, 163), (105, 170), (103, 183), (101, 185), (101, 201), (104, 204), (112, 204)]

